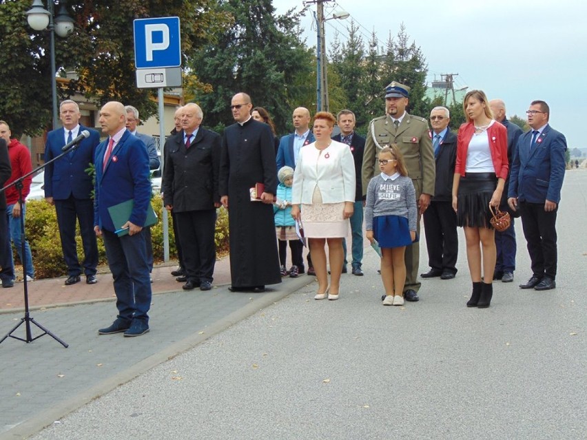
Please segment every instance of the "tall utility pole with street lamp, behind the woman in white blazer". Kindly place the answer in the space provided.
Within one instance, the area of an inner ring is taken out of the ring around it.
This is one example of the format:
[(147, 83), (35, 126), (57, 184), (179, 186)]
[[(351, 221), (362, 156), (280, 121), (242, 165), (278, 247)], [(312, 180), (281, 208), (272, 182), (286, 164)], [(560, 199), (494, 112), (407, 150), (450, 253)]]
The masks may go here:
[(324, 17), (324, 2), (331, 0), (313, 0), (306, 3), (316, 3), (316, 20), (317, 42), (316, 42), (316, 112), (328, 112), (328, 77), (326, 61), (326, 41), (324, 23), (327, 20), (344, 20), (351, 16), (349, 12), (338, 10), (333, 12), (332, 17)]

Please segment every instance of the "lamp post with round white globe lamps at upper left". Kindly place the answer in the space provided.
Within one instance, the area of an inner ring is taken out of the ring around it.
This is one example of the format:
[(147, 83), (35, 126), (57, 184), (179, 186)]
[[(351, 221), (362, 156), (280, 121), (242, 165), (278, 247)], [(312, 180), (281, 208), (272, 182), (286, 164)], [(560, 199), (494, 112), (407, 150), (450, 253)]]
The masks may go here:
[(53, 19), (54, 3), (53, 0), (47, 1), (46, 10), (43, 8), (43, 2), (41, 0), (34, 0), (32, 6), (26, 12), (28, 25), (34, 30), (45, 30), (50, 31), (50, 47), (49, 52), (51, 56), (51, 92), (52, 92), (52, 105), (53, 105), (53, 129), (57, 127), (57, 121), (59, 116), (57, 113), (57, 80), (55, 78), (57, 72), (55, 67), (55, 34), (65, 37), (73, 32), (74, 21), (72, 17), (68, 15), (65, 10), (65, 5), (61, 3), (59, 8), (59, 14)]

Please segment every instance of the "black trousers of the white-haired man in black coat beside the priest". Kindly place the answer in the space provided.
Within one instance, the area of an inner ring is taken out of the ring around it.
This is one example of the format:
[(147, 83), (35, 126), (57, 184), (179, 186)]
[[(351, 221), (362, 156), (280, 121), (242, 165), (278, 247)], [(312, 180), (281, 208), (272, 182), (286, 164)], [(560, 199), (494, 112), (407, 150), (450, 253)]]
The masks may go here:
[(175, 218), (187, 280), (212, 282), (216, 264), (216, 209), (178, 212)]

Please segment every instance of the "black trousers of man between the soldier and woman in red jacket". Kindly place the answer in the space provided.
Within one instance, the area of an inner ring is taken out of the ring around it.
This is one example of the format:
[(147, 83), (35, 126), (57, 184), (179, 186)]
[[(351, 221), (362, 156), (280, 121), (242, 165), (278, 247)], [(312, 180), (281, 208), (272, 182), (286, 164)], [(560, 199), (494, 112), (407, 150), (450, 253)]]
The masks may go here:
[(424, 211), (424, 233), (431, 269), (457, 273), (457, 214), (451, 202), (430, 202)]

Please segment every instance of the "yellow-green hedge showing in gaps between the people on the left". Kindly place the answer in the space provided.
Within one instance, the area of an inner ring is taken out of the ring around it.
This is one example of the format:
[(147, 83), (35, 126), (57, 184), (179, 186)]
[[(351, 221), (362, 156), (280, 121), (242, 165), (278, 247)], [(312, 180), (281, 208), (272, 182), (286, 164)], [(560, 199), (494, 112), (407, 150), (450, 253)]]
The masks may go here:
[[(169, 256), (177, 258), (177, 247), (173, 233), (172, 216), (163, 209), (161, 196), (154, 196), (151, 205), (159, 221), (151, 227), (153, 255), (155, 262), (163, 262), (163, 220), (162, 215), (168, 216), (169, 224)], [(57, 227), (55, 208), (44, 200), (30, 200), (27, 202), (26, 224), (27, 240), (32, 253), (32, 264), (37, 278), (60, 277), (67, 273), (67, 266), (63, 261), (61, 239)], [(223, 207), (218, 209), (216, 222), (216, 249), (217, 254), (225, 255), (229, 251), (228, 244), (228, 213)], [(79, 234), (79, 225), (76, 225), (77, 253), (83, 259), (83, 246)], [(107, 264), (106, 251), (103, 240), (98, 240), (99, 264)], [(13, 253), (17, 258), (17, 253)]]

